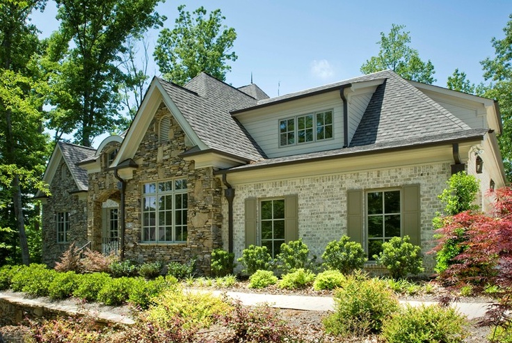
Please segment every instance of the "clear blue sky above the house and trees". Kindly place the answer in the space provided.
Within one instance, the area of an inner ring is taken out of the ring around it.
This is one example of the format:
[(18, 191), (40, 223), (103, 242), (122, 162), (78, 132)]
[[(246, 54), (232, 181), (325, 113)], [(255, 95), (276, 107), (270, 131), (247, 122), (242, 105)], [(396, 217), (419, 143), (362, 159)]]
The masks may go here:
[[(167, 0), (157, 7), (175, 25), (177, 6), (192, 12), (199, 6), (220, 8), (225, 25), (237, 32), (226, 82), (245, 86), (251, 81), (270, 97), (341, 81), (361, 74), (360, 67), (378, 54), (381, 32), (392, 24), (406, 26), (410, 47), (431, 60), (438, 86), (456, 68), (472, 83), (483, 80), (480, 61), (494, 56), (493, 37), (504, 38), (512, 13), (511, 0)], [(49, 0), (44, 13), (32, 21), (47, 37), (58, 29), (56, 6)], [(147, 32), (152, 55), (158, 30)], [(153, 62), (150, 76), (159, 76)]]

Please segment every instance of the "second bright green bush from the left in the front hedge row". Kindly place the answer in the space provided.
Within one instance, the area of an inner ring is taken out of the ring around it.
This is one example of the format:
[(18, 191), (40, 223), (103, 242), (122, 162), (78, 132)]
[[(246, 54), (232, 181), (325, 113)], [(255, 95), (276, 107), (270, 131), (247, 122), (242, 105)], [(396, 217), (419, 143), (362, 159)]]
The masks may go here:
[(13, 276), (11, 288), (30, 296), (47, 296), (48, 287), (56, 273), (53, 269), (47, 269), (45, 264), (31, 264)]

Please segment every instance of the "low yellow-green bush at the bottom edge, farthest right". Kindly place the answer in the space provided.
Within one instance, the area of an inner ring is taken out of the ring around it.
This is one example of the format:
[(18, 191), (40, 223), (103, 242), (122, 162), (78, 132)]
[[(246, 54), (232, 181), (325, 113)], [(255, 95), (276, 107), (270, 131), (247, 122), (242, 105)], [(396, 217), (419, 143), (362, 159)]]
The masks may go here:
[(407, 305), (384, 322), (382, 336), (388, 343), (458, 343), (467, 337), (465, 324), (465, 317), (454, 308)]

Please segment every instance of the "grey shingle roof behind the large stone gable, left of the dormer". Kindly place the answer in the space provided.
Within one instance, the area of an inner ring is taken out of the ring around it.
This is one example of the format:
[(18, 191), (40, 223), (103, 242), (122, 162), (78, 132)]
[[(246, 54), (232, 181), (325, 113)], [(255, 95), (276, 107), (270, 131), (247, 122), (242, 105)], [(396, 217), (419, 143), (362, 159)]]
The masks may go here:
[(200, 140), (211, 149), (258, 161), (264, 152), (232, 118), (233, 109), (253, 106), (256, 99), (201, 73), (184, 87), (158, 79)]

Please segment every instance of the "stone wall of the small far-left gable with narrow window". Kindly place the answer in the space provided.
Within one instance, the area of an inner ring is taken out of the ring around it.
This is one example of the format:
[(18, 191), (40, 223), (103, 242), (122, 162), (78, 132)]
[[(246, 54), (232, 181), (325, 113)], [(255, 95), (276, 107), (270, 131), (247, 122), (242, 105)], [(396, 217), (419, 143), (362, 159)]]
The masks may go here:
[[(79, 200), (79, 196), (72, 193), (77, 191), (77, 185), (63, 159), (49, 191), (51, 196), (42, 205), (42, 262), (53, 267), (72, 242), (79, 248), (87, 243), (87, 200)], [(70, 213), (69, 242), (66, 243), (57, 243), (58, 212)]]

